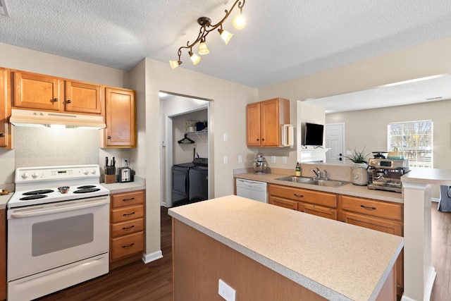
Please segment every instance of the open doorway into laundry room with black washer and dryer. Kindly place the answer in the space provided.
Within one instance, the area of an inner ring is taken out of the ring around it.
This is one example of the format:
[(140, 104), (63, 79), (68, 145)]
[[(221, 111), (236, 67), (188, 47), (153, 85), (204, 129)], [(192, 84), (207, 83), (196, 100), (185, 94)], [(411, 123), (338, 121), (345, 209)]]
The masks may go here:
[[(208, 168), (208, 161), (211, 159), (209, 139), (211, 101), (167, 92), (164, 94), (160, 94), (160, 203), (164, 207), (173, 207), (211, 197), (210, 188), (214, 185), (206, 180), (211, 178), (209, 177), (211, 168)], [(178, 166), (175, 168), (176, 171), (173, 171), (173, 166)], [(193, 166), (195, 169), (191, 170)], [(188, 181), (183, 180), (184, 172), (186, 177), (190, 175), (192, 178), (205, 179), (202, 183), (198, 183), (198, 180), (194, 183), (192, 180), (194, 188), (191, 190), (195, 190), (195, 193), (191, 195), (188, 195), (187, 191)], [(173, 204), (173, 199), (176, 204)]]

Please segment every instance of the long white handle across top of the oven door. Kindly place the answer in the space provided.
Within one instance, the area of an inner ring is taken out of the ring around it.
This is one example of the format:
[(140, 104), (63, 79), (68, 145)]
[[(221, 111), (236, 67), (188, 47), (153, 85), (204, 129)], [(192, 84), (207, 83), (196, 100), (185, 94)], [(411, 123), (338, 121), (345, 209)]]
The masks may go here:
[(51, 206), (42, 206), (42, 207), (36, 207), (35, 209), (27, 210), (27, 211), (15, 211), (11, 213), (12, 219), (23, 219), (26, 217), (32, 217), (32, 216), (40, 216), (40, 215), (46, 215), (46, 214), (55, 214), (55, 213), (61, 213), (65, 211), (73, 211), (73, 210), (79, 210), (79, 209), (85, 209), (89, 207), (97, 207), (102, 206), (104, 204), (108, 204), (109, 198), (103, 197), (99, 199), (92, 199), (87, 201), (78, 201), (78, 202), (70, 202), (68, 201), (65, 204), (52, 204)]

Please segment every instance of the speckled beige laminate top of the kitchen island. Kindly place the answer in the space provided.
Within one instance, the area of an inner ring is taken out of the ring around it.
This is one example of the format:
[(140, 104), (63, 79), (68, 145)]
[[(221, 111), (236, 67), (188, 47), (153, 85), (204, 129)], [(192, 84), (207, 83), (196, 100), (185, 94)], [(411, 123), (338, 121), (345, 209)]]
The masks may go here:
[(375, 300), (402, 237), (230, 195), (169, 215), (329, 300)]

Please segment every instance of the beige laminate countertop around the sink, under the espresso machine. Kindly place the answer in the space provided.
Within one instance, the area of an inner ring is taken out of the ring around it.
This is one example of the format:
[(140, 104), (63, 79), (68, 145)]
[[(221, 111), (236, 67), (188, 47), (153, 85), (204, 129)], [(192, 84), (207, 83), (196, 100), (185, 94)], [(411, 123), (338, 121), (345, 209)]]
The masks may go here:
[[(409, 173), (407, 173), (409, 174)], [(402, 193), (383, 191), (383, 190), (370, 190), (366, 186), (354, 185), (352, 183), (341, 186), (339, 188), (322, 187), (316, 185), (309, 185), (303, 183), (292, 183), (283, 180), (276, 180), (276, 178), (282, 178), (288, 176), (283, 173), (266, 173), (264, 175), (256, 175), (254, 173), (235, 173), (234, 178), (242, 178), (245, 180), (257, 180), (261, 182), (285, 185), (297, 188), (305, 188), (310, 190), (318, 190), (323, 192), (332, 192), (340, 195), (352, 195), (354, 197), (366, 197), (369, 199), (378, 199), (380, 201), (402, 203)]]

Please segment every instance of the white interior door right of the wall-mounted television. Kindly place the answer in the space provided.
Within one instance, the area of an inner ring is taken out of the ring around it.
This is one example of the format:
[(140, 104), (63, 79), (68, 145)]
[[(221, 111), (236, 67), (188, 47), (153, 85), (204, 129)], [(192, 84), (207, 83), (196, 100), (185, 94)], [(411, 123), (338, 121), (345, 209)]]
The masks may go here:
[(330, 123), (325, 126), (327, 163), (345, 163), (345, 123)]

